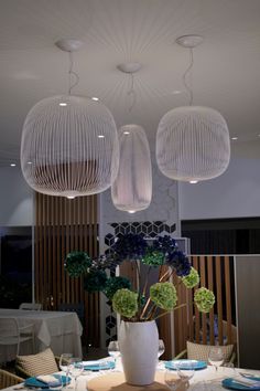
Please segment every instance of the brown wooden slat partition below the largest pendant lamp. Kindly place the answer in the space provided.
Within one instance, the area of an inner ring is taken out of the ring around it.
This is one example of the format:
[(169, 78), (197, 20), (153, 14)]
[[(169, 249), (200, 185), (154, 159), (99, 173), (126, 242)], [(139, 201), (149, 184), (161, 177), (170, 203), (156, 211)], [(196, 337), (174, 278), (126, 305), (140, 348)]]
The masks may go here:
[(88, 342), (99, 346), (99, 295), (84, 292), (83, 277), (71, 278), (64, 261), (72, 251), (98, 255), (97, 197), (68, 200), (35, 193), (35, 299), (44, 309), (85, 303)]

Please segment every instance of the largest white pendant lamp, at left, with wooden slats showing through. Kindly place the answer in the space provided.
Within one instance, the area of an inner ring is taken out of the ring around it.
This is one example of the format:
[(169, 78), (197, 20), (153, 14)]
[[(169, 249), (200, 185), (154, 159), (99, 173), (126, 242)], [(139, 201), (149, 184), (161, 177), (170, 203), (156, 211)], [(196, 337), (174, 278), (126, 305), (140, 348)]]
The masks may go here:
[[(61, 40), (56, 45), (71, 55), (82, 42)], [(78, 80), (72, 67), (71, 61), (69, 76)], [(119, 142), (112, 115), (100, 102), (71, 95), (74, 86), (68, 95), (39, 102), (23, 126), (22, 172), (29, 186), (44, 194), (95, 194), (117, 177)]]

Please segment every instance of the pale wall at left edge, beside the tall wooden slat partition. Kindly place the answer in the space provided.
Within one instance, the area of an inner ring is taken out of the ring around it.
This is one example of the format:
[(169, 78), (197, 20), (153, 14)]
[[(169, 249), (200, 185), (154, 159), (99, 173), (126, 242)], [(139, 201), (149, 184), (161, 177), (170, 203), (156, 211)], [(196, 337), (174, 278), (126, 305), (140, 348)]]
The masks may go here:
[(33, 191), (20, 168), (0, 168), (0, 226), (32, 225)]

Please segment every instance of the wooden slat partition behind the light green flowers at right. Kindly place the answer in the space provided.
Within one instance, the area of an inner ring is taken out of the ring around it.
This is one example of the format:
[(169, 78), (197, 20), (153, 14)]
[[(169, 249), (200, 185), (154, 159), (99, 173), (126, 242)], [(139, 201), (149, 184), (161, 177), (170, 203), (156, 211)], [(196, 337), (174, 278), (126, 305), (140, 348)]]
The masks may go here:
[[(209, 314), (201, 314), (193, 304), (194, 289), (186, 289), (187, 320), (180, 310), (174, 313), (175, 355), (186, 348), (186, 340), (183, 338), (185, 329), (188, 340), (198, 344), (216, 344), (215, 321), (218, 326), (217, 342), (236, 344), (232, 256), (193, 255), (191, 262), (201, 275), (201, 286), (214, 292), (216, 303)], [(185, 294), (182, 293), (181, 297), (183, 299)]]

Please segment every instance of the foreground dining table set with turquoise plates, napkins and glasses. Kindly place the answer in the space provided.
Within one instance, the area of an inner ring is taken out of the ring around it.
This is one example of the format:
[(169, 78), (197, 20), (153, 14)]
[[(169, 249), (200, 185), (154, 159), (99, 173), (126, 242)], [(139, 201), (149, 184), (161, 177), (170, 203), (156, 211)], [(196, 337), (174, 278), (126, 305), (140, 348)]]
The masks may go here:
[(154, 382), (148, 385), (132, 385), (126, 382), (120, 356), (99, 360), (80, 360), (69, 353), (61, 356), (61, 372), (32, 377), (24, 383), (7, 390), (50, 391), (260, 391), (260, 371), (242, 370), (232, 366), (208, 364), (201, 360), (158, 361)]

